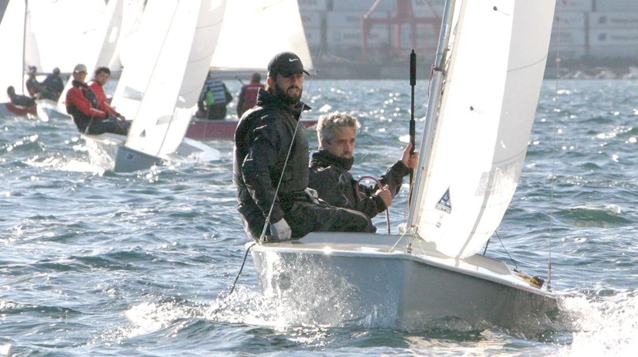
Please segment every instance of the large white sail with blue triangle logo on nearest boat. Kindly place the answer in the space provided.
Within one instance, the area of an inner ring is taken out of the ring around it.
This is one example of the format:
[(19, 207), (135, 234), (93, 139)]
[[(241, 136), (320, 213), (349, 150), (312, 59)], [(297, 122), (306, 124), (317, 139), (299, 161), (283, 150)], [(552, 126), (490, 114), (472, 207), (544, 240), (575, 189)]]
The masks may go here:
[(478, 252), (514, 195), (553, 13), (554, 0), (457, 1), (431, 156), (417, 169), (423, 193), (408, 222), (445, 255)]

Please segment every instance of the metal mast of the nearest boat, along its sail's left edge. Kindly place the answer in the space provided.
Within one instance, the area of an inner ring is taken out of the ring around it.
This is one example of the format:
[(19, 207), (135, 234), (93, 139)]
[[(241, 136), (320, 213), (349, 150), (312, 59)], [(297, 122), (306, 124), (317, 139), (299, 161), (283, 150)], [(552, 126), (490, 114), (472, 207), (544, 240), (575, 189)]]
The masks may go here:
[(434, 139), (433, 130), (436, 127), (434, 123), (438, 120), (438, 107), (441, 101), (441, 87), (443, 86), (443, 66), (445, 65), (445, 54), (448, 49), (450, 32), (452, 31), (452, 17), (454, 15), (455, 3), (456, 0), (447, 0), (445, 1), (445, 8), (443, 8), (441, 31), (439, 34), (438, 46), (436, 47), (436, 56), (434, 57), (434, 75), (431, 86), (432, 92), (430, 93), (429, 100), (427, 102), (426, 123), (420, 144), (421, 152), (419, 153), (419, 165), (417, 165), (417, 178), (415, 179), (412, 196), (408, 197), (410, 209), (408, 210), (406, 230), (410, 230), (414, 227), (417, 220), (419, 220), (415, 205), (417, 202), (420, 202), (420, 197), (423, 194), (423, 187), (421, 183), (426, 178), (426, 170), (432, 153), (432, 141)]

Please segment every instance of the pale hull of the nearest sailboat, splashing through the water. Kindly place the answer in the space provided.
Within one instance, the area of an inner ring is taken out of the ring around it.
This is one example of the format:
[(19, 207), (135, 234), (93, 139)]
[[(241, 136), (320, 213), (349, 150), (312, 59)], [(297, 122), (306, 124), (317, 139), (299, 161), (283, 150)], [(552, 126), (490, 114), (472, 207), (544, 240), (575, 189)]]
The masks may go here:
[(543, 326), (556, 308), (550, 292), (483, 255), (445, 257), (427, 243), (406, 252), (400, 236), (312, 233), (255, 245), (260, 288), (294, 323), (345, 321), (424, 328), (461, 320), (505, 328)]

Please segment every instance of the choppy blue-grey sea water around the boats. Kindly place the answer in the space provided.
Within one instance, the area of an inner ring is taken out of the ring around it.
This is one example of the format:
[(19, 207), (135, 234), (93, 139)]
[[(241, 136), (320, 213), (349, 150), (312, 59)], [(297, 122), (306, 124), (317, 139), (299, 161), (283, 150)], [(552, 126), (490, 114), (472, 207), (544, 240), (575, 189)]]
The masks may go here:
[[(237, 93), (238, 82), (227, 84)], [(89, 165), (70, 121), (0, 118), (0, 356), (635, 355), (638, 82), (563, 80), (558, 89), (556, 102), (556, 82), (544, 83), (498, 231), (528, 273), (547, 275), (551, 247), (552, 286), (565, 298), (540, 333), (463, 321), (409, 331), (297, 324), (260, 294), (250, 258), (225, 298), (248, 241), (232, 142), (210, 142), (218, 162), (114, 174)], [(378, 175), (401, 155), (407, 82), (314, 80), (306, 92), (315, 112), (362, 118), (358, 158), (370, 153), (355, 175)], [(382, 215), (375, 223), (385, 229)], [(487, 254), (508, 261), (496, 239)]]

